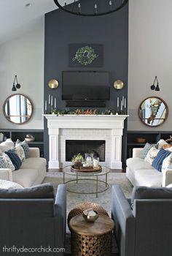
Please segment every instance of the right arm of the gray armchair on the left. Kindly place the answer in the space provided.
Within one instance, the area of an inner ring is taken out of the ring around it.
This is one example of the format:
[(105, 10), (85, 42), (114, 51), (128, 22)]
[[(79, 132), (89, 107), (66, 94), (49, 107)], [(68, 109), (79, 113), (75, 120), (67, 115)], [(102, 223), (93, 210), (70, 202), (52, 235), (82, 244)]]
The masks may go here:
[[(58, 191), (55, 197), (55, 241), (56, 246), (63, 248), (66, 236), (66, 185), (58, 185)], [(62, 254), (63, 255), (63, 254)]]

